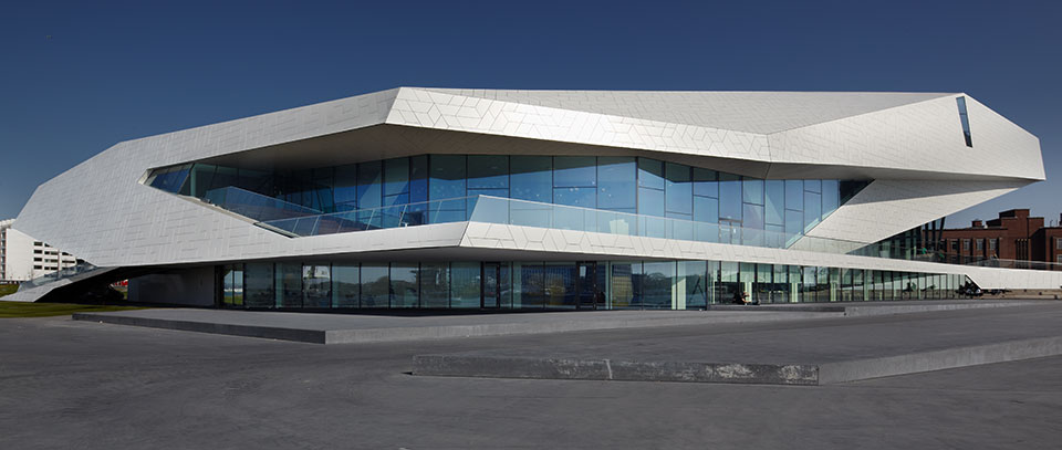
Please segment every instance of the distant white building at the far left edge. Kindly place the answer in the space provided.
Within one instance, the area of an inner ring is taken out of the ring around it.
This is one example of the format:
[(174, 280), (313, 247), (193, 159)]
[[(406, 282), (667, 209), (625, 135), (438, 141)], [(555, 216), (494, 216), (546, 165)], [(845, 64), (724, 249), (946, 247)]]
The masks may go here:
[(27, 281), (73, 266), (77, 260), (0, 220), (0, 281)]

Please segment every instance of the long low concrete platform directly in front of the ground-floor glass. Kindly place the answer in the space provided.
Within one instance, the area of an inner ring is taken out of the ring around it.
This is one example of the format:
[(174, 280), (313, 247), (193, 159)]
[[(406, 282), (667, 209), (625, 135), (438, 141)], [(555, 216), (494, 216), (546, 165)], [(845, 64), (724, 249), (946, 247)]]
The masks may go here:
[(264, 311), (158, 308), (79, 313), (75, 321), (148, 326), (315, 344), (364, 344), (477, 336), (690, 325), (752, 324), (811, 318), (892, 315), (981, 307), (1043, 305), (1045, 302), (903, 302), (885, 304), (712, 305), (709, 311), (602, 311), (467, 315), (367, 315)]

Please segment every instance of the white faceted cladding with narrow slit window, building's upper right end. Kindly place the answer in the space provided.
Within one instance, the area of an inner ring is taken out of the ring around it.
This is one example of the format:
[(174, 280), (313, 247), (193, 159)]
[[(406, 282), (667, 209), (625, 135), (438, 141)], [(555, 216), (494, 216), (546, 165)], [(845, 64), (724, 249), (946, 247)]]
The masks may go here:
[(967, 147), (958, 96), (772, 134), (771, 160), (1044, 179), (1039, 139), (969, 96), (974, 147)]

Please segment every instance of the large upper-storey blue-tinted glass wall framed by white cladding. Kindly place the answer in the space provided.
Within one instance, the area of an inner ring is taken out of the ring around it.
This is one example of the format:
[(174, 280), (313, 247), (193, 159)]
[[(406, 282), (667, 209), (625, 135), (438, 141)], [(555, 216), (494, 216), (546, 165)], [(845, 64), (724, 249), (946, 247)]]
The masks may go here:
[[(537, 202), (647, 218), (597, 220), (602, 232), (642, 220), (641, 236), (785, 247), (867, 181), (763, 180), (642, 157), (419, 155), (278, 171), (185, 164), (145, 184), (295, 237), (465, 221), (477, 196), (490, 196), (527, 201), (491, 212), (491, 222), (574, 229), (569, 217), (538, 223)], [(296, 221), (308, 217), (320, 219)]]

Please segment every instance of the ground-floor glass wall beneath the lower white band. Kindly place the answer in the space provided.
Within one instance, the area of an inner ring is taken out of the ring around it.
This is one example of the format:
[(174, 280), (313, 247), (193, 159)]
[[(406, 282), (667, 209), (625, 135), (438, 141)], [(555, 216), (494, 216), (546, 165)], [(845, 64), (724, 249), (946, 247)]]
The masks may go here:
[(950, 299), (962, 275), (727, 261), (253, 262), (218, 268), (220, 305), (248, 310), (702, 310)]

